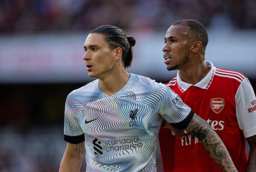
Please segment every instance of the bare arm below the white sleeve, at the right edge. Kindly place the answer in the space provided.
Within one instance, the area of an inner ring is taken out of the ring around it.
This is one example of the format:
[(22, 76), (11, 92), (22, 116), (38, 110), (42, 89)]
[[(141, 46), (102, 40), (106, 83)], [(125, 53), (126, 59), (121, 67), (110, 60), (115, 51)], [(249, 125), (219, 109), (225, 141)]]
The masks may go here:
[(253, 172), (256, 169), (256, 135), (247, 138), (250, 145), (250, 152), (248, 156), (248, 162), (246, 172)]

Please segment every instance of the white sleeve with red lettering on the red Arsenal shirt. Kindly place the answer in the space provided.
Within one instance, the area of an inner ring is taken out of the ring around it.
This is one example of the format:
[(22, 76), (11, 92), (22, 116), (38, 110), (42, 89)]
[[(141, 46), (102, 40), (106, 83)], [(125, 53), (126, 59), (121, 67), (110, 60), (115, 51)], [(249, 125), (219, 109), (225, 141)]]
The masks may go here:
[(236, 92), (236, 118), (239, 127), (248, 138), (256, 135), (256, 98), (249, 80), (241, 82)]

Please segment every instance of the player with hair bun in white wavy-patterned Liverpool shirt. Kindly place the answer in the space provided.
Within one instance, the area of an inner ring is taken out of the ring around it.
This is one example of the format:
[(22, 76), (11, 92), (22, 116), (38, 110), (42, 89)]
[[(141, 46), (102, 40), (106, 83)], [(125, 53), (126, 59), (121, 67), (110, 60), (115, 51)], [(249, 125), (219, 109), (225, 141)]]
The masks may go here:
[(89, 76), (97, 79), (67, 96), (67, 148), (59, 171), (79, 172), (85, 149), (87, 172), (156, 172), (157, 136), (165, 119), (204, 142), (224, 171), (236, 172), (221, 139), (179, 96), (126, 71), (135, 42), (113, 25), (99, 26), (87, 36), (83, 59)]

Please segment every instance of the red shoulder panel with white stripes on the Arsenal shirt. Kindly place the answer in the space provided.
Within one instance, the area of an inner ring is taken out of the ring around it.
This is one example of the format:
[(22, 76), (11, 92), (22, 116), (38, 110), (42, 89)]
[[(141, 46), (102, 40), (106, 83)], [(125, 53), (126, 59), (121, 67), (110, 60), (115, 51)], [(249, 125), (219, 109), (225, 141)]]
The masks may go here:
[(228, 69), (216, 68), (215, 75), (223, 80), (241, 83), (246, 79), (243, 73)]

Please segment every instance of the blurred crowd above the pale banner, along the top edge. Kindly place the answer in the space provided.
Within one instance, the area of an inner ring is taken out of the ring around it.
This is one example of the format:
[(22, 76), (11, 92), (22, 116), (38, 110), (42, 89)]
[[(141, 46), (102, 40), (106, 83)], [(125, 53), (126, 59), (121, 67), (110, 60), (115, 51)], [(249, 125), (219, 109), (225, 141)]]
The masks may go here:
[(0, 0), (0, 34), (91, 30), (102, 24), (155, 31), (182, 18), (209, 26), (223, 16), (235, 28), (256, 28), (255, 8), (255, 0)]

